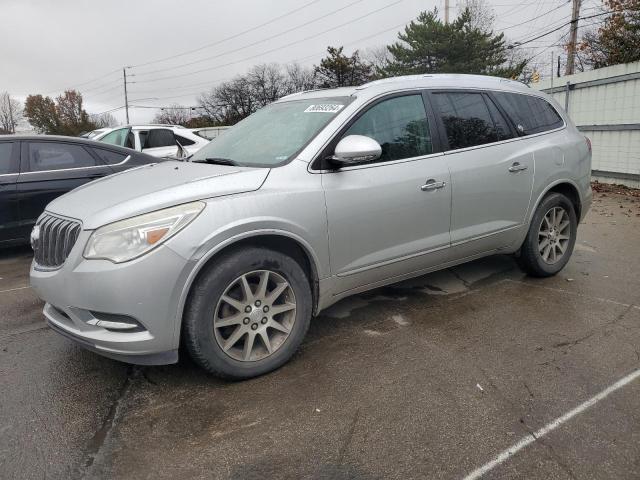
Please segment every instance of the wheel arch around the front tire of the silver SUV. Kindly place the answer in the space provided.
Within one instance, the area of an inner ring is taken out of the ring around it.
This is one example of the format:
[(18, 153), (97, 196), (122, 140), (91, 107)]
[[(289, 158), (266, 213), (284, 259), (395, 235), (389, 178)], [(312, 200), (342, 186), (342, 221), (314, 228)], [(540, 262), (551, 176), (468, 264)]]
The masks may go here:
[(243, 247), (266, 247), (292, 257), (305, 270), (309, 279), (311, 296), (313, 299), (313, 314), (317, 313), (319, 305), (319, 263), (318, 258), (313, 253), (311, 246), (299, 236), (280, 230), (258, 230), (246, 232), (235, 237), (231, 237), (222, 242), (199, 258), (194, 268), (191, 270), (182, 288), (178, 303), (176, 335), (180, 335), (182, 329), (182, 317), (187, 302), (187, 298), (193, 285), (198, 280), (208, 265), (215, 262), (216, 258), (229, 251)]

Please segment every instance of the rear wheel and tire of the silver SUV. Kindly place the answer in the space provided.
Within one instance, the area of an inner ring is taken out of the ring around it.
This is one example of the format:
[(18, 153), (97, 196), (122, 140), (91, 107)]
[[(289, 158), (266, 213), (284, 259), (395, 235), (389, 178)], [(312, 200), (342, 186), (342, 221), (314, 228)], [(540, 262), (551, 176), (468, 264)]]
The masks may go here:
[(531, 220), (520, 249), (520, 266), (533, 277), (555, 275), (571, 258), (577, 232), (578, 221), (571, 201), (561, 193), (550, 193), (540, 202)]

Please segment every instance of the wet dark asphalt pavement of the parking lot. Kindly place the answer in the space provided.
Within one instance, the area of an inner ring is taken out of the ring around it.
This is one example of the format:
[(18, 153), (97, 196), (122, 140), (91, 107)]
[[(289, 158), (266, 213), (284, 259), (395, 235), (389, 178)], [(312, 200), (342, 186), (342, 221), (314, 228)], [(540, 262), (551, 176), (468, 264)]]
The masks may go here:
[(640, 198), (569, 265), (496, 256), (346, 299), (280, 370), (133, 367), (46, 327), (0, 252), (0, 478), (640, 478)]

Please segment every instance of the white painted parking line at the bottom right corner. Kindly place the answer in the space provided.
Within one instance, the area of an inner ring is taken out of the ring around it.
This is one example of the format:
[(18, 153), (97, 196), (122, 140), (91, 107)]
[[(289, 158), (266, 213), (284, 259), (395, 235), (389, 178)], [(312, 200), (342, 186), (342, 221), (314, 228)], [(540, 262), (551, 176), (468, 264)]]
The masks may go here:
[(499, 453), (496, 457), (493, 458), (493, 460), (491, 460), (488, 463), (485, 463), (480, 468), (477, 468), (476, 470), (474, 470), (473, 472), (468, 474), (466, 477), (464, 477), (464, 480), (476, 480), (477, 478), (482, 477), (485, 473), (490, 472), (491, 470), (496, 468), (501, 463), (504, 463), (509, 458), (511, 458), (511, 456), (515, 455), (516, 453), (518, 453), (520, 450), (522, 450), (526, 446), (532, 444), (533, 442), (535, 442), (539, 438), (544, 437), (549, 432), (552, 432), (553, 430), (558, 428), (563, 423), (568, 422), (569, 420), (571, 420), (576, 415), (579, 415), (580, 413), (584, 412), (588, 408), (594, 406), (600, 400), (603, 400), (604, 398), (608, 397), (611, 393), (613, 393), (616, 390), (624, 387), (625, 385), (633, 382), (638, 377), (640, 377), (640, 369), (635, 370), (634, 372), (631, 372), (629, 375), (627, 375), (626, 377), (621, 378), (616, 383), (614, 383), (610, 387), (604, 389), (602, 392), (598, 393), (597, 395), (591, 397), (586, 402), (581, 403), (580, 405), (578, 405), (573, 410), (570, 410), (569, 412), (565, 413), (561, 417), (558, 417), (555, 420), (553, 420), (552, 422), (547, 423), (540, 430), (524, 436), (519, 442), (515, 443), (511, 447), (509, 447), (506, 450), (503, 450), (501, 453)]

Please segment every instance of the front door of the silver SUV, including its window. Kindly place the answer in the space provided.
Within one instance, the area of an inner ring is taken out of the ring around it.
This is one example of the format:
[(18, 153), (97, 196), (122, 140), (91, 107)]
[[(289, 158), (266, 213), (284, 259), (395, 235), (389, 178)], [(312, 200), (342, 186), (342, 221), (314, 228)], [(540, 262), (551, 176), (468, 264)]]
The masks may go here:
[(365, 135), (382, 147), (368, 163), (323, 174), (335, 294), (442, 263), (451, 186), (420, 93), (368, 107), (335, 141)]

